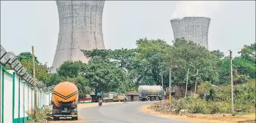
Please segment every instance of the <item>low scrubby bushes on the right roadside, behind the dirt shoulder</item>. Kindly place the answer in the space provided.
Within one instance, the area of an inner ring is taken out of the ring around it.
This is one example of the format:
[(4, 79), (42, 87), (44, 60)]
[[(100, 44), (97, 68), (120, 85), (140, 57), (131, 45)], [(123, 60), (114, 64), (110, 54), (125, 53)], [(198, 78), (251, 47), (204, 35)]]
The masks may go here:
[[(209, 83), (200, 84), (199, 94), (209, 91), (207, 100), (194, 98), (193, 95), (187, 98), (172, 99), (172, 104), (155, 104), (156, 108), (165, 112), (179, 112), (188, 110), (190, 113), (215, 114), (231, 113), (231, 86), (211, 87)], [(234, 86), (234, 110), (241, 109), (242, 112), (255, 112), (255, 80), (249, 80), (245, 84)], [(175, 110), (174, 110), (175, 109)]]

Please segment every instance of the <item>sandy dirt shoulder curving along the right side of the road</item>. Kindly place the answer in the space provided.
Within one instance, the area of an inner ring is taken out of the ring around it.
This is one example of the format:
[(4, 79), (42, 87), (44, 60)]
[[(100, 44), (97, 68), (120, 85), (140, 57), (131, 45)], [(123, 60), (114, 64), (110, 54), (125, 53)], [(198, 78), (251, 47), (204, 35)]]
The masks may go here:
[(231, 123), (231, 122), (255, 122), (255, 113), (250, 115), (235, 115), (231, 114), (216, 114), (216, 115), (204, 115), (204, 114), (173, 114), (165, 112), (156, 112), (151, 110), (153, 104), (144, 105), (141, 107), (141, 111), (147, 112), (149, 114), (158, 115), (161, 117), (166, 117), (170, 119), (178, 119), (182, 121), (190, 122), (222, 122), (222, 123)]

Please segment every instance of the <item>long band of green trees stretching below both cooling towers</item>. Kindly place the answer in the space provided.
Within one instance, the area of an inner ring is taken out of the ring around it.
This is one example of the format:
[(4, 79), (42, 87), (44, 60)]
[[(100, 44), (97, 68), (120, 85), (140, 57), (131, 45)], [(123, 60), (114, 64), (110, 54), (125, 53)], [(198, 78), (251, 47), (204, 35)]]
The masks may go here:
[[(173, 45), (164, 40), (136, 40), (136, 49), (94, 49), (81, 50), (89, 62), (66, 61), (57, 73), (47, 73), (49, 69), (36, 59), (36, 78), (47, 86), (61, 81), (77, 85), (80, 97), (91, 91), (125, 93), (136, 90), (140, 85), (161, 85), (169, 87), (169, 68), (172, 70), (172, 83), (186, 83), (189, 69), (189, 84), (196, 81), (196, 72), (201, 82), (217, 86), (230, 83), (230, 57), (220, 50), (209, 51), (192, 41), (177, 39)], [(238, 52), (241, 56), (233, 58), (233, 77), (236, 84), (255, 78), (255, 43), (244, 45)], [(28, 71), (33, 71), (32, 54), (19, 54), (18, 60)]]

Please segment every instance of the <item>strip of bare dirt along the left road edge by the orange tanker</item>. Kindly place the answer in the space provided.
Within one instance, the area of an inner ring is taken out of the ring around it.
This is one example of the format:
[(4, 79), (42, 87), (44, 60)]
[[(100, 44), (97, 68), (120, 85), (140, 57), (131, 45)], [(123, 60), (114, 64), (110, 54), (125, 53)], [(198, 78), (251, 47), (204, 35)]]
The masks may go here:
[[(103, 105), (111, 105), (111, 104), (118, 104), (118, 103), (124, 103), (124, 102), (103, 102)], [(98, 102), (94, 102), (94, 103), (80, 103), (77, 105), (78, 107), (78, 112), (79, 110), (81, 110), (81, 108), (85, 108), (85, 107), (96, 107), (98, 106)], [(61, 118), (59, 121), (53, 121), (52, 119), (48, 120), (50, 123), (54, 122), (54, 123), (63, 123), (63, 122), (84, 122), (86, 121), (86, 118), (82, 118), (79, 117), (78, 115), (78, 120), (77, 121), (71, 121), (70, 118)]]

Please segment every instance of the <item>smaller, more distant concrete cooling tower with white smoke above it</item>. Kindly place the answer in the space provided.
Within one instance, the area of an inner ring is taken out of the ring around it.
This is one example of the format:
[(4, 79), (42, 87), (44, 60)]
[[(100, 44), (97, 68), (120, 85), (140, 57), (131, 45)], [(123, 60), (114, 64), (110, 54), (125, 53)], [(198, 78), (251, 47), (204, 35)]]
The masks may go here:
[(208, 31), (210, 18), (204, 17), (185, 17), (182, 19), (172, 19), (172, 30), (174, 41), (184, 37), (185, 40), (192, 40), (194, 43), (208, 49)]

